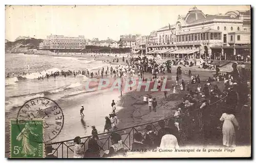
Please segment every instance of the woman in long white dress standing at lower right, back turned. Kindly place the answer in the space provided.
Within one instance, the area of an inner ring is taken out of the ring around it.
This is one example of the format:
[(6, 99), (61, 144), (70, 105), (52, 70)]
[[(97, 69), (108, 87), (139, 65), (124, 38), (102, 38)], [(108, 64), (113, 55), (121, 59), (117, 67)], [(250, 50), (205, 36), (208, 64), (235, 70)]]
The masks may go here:
[(234, 130), (234, 126), (239, 129), (239, 124), (237, 119), (230, 112), (231, 110), (224, 112), (220, 118), (220, 121), (224, 121), (222, 126), (223, 145), (236, 147), (236, 131)]

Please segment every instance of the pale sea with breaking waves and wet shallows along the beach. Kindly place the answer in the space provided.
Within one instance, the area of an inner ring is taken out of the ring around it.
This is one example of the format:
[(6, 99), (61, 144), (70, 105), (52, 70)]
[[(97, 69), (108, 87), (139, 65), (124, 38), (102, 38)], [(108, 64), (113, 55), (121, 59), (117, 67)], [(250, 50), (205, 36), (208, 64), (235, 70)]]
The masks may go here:
[[(99, 133), (103, 132), (104, 117), (112, 111), (111, 102), (119, 100), (117, 92), (107, 90), (88, 92), (84, 89), (84, 83), (90, 79), (83, 75), (57, 76), (39, 80), (38, 77), (47, 72), (61, 70), (73, 72), (88, 69), (96, 72), (98, 68), (106, 68), (106, 66), (110, 66), (109, 64), (95, 61), (89, 57), (26, 54), (6, 54), (5, 60), (6, 121), (16, 118), (18, 109), (26, 101), (36, 97), (46, 97), (57, 102), (65, 116), (63, 129), (53, 141), (91, 135), (91, 126), (96, 126)], [(20, 74), (23, 72), (26, 72), (27, 75)], [(8, 73), (9, 78), (7, 78)], [(14, 76), (12, 76), (13, 73)], [(85, 116), (83, 119), (80, 117), (81, 105), (84, 106)], [(7, 124), (8, 122), (6, 122)]]

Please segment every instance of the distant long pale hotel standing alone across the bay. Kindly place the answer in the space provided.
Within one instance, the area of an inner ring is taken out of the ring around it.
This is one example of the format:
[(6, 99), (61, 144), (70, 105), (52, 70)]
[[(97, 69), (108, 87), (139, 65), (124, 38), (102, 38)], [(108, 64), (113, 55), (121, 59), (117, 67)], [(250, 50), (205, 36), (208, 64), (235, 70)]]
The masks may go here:
[(39, 49), (85, 49), (84, 36), (67, 37), (63, 35), (49, 35), (39, 44)]

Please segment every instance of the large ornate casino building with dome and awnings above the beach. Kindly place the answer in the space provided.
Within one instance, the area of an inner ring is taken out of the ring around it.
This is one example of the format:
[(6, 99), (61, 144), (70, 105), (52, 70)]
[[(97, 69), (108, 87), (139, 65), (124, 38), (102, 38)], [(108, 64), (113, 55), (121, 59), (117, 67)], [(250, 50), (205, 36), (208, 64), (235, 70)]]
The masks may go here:
[(208, 15), (193, 7), (185, 16), (179, 15), (175, 25), (151, 32), (146, 51), (147, 54), (188, 59), (248, 56), (250, 24), (250, 10)]

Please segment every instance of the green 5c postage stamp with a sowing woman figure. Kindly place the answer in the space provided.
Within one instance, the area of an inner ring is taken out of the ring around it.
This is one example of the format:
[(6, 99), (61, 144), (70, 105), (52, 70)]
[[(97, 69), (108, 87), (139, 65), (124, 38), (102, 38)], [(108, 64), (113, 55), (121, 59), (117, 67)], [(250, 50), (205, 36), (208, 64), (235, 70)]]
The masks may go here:
[(10, 158), (44, 158), (43, 120), (11, 120)]

